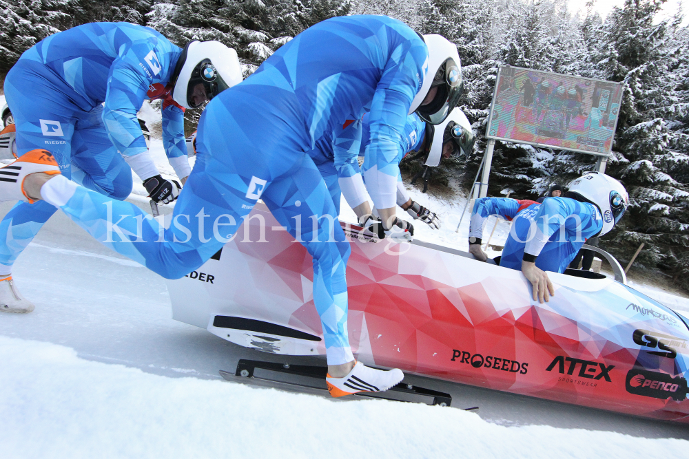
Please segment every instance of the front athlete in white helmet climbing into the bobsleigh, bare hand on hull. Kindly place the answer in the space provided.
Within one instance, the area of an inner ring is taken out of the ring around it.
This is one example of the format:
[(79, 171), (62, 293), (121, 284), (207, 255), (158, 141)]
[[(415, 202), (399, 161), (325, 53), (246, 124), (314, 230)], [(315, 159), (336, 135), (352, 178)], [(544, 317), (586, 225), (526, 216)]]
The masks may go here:
[(480, 198), (471, 212), (469, 252), (481, 261), (486, 219), (500, 215), (512, 228), (500, 257), (500, 266), (522, 270), (533, 285), (533, 299), (541, 303), (555, 295), (544, 271), (564, 273), (586, 239), (608, 233), (629, 204), (624, 186), (604, 173), (590, 172), (573, 180), (562, 198), (545, 198), (541, 204), (511, 198)]

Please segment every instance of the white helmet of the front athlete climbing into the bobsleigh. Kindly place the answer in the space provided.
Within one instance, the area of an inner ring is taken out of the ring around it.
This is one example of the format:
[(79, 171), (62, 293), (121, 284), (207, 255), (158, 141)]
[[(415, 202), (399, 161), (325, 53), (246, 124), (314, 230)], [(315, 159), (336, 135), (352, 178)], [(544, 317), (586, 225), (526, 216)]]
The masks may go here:
[(577, 198), (590, 202), (601, 211), (603, 229), (599, 236), (613, 229), (629, 205), (629, 195), (624, 186), (610, 175), (599, 172), (588, 172), (573, 180), (568, 193), (575, 193)]

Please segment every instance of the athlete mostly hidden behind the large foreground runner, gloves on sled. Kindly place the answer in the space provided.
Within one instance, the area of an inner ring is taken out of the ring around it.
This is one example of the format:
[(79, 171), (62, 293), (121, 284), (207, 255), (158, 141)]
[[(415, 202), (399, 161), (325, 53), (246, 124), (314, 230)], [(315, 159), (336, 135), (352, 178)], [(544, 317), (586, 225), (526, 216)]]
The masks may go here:
[[(309, 151), (309, 156), (313, 158), (313, 162), (316, 163), (318, 171), (328, 186), (336, 213), (340, 213), (340, 195), (343, 195), (347, 204), (356, 213), (359, 223), (382, 238), (385, 235), (380, 224), (380, 217), (375, 209), (371, 209), (369, 194), (358, 162), (358, 158), (364, 158), (364, 176), (375, 165), (367, 160), (371, 158), (371, 155), (366, 154), (370, 134), (369, 114), (365, 114), (360, 120), (346, 120), (341, 126), (337, 125), (331, 135), (323, 136), (318, 140), (316, 148)], [(407, 116), (400, 140), (402, 148), (398, 149), (396, 164), (400, 164), (408, 153), (418, 151), (426, 157), (426, 164), (437, 166), (441, 156), (450, 158), (460, 153), (465, 157), (469, 156), (473, 150), (474, 135), (471, 124), (462, 110), (455, 108), (437, 127), (422, 121), (417, 114)], [(421, 220), (431, 228), (440, 228), (438, 215), (411, 199), (409, 192), (402, 184), (402, 174), (399, 169), (396, 203), (415, 220)], [(405, 239), (413, 236), (413, 226), (409, 222), (403, 220), (398, 222), (409, 230), (407, 233), (402, 233)]]

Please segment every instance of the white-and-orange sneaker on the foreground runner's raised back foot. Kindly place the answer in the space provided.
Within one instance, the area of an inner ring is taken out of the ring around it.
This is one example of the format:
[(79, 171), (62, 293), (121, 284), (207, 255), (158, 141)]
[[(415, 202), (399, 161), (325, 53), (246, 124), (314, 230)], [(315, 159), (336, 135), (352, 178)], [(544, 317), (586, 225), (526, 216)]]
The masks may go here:
[(26, 201), (33, 204), (24, 191), (24, 179), (35, 172), (45, 172), (50, 175), (60, 173), (52, 153), (48, 150), (36, 149), (23, 154), (18, 160), (0, 167), (0, 201)]

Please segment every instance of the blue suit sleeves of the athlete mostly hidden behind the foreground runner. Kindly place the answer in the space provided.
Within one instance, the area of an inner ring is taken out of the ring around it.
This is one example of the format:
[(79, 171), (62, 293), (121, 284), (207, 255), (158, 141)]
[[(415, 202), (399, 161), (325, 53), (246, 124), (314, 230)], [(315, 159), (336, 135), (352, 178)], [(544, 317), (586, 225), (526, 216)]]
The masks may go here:
[[(407, 116), (407, 122), (402, 132), (402, 149), (395, 161), (397, 164), (407, 156), (409, 151), (420, 149), (424, 142), (426, 123), (416, 114)], [(368, 193), (364, 187), (358, 157), (366, 158), (366, 149), (371, 136), (371, 122), (369, 114), (362, 120), (346, 120), (336, 127), (329, 136), (324, 136), (316, 142), (316, 148), (309, 151), (325, 183), (328, 186), (338, 214), (340, 212), (340, 194), (345, 195), (347, 204), (353, 209), (368, 200)], [(371, 164), (364, 159), (364, 171)], [(402, 184), (402, 174), (398, 169), (397, 204), (409, 201), (409, 193)]]

